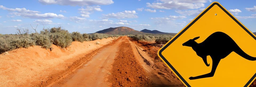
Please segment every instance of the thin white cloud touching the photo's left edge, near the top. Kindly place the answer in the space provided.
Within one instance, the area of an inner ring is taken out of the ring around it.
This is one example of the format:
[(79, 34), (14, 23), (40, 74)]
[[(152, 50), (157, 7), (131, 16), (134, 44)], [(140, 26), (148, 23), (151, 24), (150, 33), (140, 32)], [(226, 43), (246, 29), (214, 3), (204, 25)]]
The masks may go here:
[(26, 8), (7, 8), (5, 6), (0, 5), (0, 8), (2, 8), (3, 10), (7, 10), (7, 11), (17, 11), (17, 12), (26, 12), (26, 13), (39, 13), (39, 11), (32, 11), (32, 10), (27, 10)]

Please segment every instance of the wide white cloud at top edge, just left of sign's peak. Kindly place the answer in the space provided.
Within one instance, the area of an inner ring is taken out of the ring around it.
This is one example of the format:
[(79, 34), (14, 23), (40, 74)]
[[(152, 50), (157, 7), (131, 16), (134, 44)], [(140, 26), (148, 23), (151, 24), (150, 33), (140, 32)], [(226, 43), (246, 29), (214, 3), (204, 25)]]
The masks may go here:
[(156, 3), (146, 3), (147, 7), (155, 9), (197, 9), (204, 7), (209, 0), (159, 0)]

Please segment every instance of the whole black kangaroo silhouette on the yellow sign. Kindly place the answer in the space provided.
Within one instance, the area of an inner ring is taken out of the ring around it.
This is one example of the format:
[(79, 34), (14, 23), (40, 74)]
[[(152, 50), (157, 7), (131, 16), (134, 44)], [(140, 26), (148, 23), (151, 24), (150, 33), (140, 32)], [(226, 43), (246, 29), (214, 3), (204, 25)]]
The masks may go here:
[(251, 57), (243, 52), (243, 50), (235, 43), (235, 41), (229, 35), (223, 32), (215, 32), (211, 34), (202, 43), (195, 42), (195, 40), (198, 38), (199, 36), (194, 39), (190, 39), (182, 45), (192, 47), (197, 55), (203, 59), (203, 62), (206, 66), (210, 66), (210, 64), (207, 63), (206, 57), (211, 56), (213, 64), (210, 73), (196, 77), (189, 77), (190, 80), (213, 77), (219, 61), (227, 57), (233, 51), (250, 61), (256, 60), (255, 57)]

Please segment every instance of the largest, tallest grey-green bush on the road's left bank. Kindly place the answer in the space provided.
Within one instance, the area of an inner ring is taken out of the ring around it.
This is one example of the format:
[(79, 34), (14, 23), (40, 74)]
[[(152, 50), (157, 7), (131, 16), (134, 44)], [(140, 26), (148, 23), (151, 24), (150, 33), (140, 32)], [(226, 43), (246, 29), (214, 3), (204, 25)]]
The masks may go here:
[(50, 29), (50, 40), (53, 44), (66, 48), (71, 45), (72, 38), (67, 30), (59, 28)]

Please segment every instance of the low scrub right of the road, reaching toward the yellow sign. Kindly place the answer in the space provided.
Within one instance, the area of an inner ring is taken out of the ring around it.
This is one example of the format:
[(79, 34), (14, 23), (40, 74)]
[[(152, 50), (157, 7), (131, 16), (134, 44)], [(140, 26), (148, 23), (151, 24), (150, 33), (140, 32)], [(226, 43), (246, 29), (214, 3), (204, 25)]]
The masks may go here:
[(158, 34), (158, 35), (129, 35), (129, 37), (133, 38), (134, 40), (146, 40), (152, 41), (154, 40), (157, 44), (165, 44), (167, 43), (174, 35), (170, 34)]

